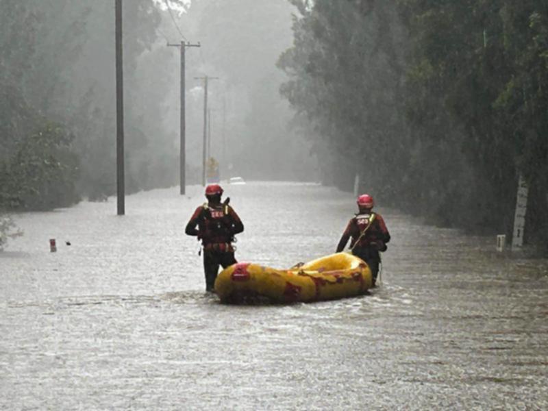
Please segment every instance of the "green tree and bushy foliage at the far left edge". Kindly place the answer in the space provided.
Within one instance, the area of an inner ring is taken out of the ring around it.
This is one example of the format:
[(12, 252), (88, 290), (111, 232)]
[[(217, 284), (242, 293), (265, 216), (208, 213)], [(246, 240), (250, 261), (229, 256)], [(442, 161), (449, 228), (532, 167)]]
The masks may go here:
[[(0, 210), (46, 210), (77, 201), (77, 156), (62, 126), (27, 103), (37, 17), (28, 3), (4, 0), (0, 17)], [(22, 28), (27, 26), (24, 33)], [(21, 36), (18, 36), (22, 33)], [(21, 38), (23, 41), (21, 41)], [(26, 43), (26, 42), (28, 43)]]

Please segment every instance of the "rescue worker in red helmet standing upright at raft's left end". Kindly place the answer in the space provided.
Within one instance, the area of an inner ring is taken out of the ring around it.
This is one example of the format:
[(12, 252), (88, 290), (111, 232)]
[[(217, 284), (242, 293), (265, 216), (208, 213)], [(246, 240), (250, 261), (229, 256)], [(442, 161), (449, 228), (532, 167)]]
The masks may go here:
[(229, 198), (221, 203), (223, 188), (219, 184), (206, 187), (208, 202), (196, 209), (186, 225), (185, 233), (197, 236), (203, 246), (203, 270), (206, 274), (206, 290), (213, 291), (219, 265), (223, 269), (236, 264), (234, 236), (244, 231), (240, 217), (228, 205)]

